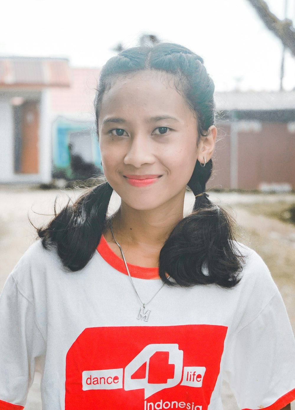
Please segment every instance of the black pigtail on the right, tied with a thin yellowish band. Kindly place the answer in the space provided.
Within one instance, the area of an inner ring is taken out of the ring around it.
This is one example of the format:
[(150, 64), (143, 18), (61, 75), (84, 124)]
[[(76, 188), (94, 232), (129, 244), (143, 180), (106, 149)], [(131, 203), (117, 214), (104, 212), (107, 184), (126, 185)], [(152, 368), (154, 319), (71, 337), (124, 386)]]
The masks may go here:
[[(212, 161), (197, 161), (188, 186), (196, 196), (192, 214), (171, 232), (159, 257), (159, 275), (168, 285), (192, 286), (216, 283), (231, 288), (239, 282), (243, 256), (235, 247), (232, 219), (213, 204), (206, 190)], [(167, 279), (170, 275), (175, 282)]]

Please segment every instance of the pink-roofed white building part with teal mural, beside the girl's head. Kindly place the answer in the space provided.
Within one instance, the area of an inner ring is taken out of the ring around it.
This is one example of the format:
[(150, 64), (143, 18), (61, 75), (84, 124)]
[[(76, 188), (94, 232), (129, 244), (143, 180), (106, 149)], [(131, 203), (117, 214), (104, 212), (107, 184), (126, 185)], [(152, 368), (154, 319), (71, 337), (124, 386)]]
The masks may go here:
[(99, 70), (71, 68), (70, 87), (49, 91), (52, 178), (85, 180), (101, 171), (93, 100)]

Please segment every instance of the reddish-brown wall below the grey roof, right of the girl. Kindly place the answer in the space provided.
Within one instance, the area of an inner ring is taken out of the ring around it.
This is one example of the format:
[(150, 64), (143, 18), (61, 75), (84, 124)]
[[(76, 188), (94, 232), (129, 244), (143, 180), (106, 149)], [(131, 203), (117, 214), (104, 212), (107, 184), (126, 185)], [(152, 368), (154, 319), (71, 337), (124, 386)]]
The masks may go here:
[[(230, 188), (230, 123), (217, 126), (215, 175), (208, 188)], [(286, 123), (262, 123), (261, 131), (238, 132), (238, 187), (259, 189), (266, 183), (289, 183), (295, 189), (295, 134)]]

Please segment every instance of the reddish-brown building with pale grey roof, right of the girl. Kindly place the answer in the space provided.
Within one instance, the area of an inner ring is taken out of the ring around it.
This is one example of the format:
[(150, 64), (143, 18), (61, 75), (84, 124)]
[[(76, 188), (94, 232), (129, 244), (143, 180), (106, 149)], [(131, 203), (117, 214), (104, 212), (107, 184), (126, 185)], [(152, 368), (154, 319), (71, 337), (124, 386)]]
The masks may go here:
[(295, 189), (295, 91), (216, 93), (219, 135), (208, 186)]

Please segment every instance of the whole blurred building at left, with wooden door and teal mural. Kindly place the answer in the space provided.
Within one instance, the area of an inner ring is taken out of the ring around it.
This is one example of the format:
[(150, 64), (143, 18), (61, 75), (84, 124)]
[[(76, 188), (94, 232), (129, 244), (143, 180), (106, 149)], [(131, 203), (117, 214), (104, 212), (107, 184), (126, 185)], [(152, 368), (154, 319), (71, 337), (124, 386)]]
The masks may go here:
[(67, 59), (0, 58), (0, 183), (101, 172), (92, 109), (98, 74)]

